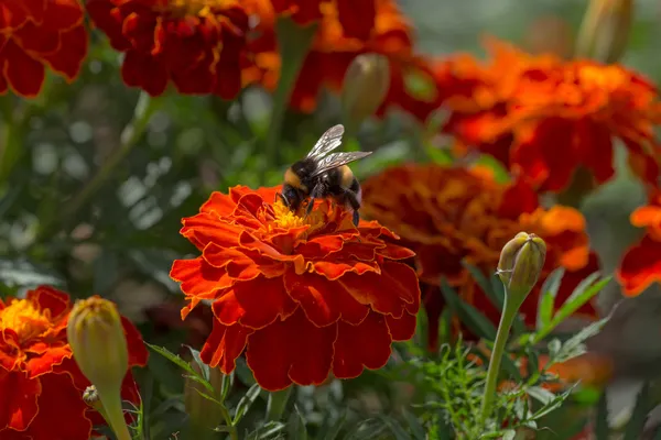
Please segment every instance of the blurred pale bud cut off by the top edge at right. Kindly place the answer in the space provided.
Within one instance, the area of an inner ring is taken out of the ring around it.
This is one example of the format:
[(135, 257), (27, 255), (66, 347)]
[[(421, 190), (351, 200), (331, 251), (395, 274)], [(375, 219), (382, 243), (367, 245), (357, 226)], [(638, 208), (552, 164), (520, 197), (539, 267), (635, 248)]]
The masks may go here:
[(616, 63), (625, 53), (633, 0), (590, 0), (581, 24), (576, 55)]

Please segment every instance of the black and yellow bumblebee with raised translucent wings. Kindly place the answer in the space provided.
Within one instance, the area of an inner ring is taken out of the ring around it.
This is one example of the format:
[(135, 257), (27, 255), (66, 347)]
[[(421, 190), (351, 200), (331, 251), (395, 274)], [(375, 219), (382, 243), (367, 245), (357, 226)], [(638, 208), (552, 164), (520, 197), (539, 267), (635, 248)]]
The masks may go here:
[(296, 211), (310, 198), (306, 216), (314, 206), (314, 199), (330, 197), (336, 202), (354, 211), (354, 224), (360, 219), (360, 184), (348, 163), (369, 156), (371, 152), (333, 153), (342, 144), (344, 125), (328, 129), (312, 147), (307, 156), (290, 166), (284, 173), (282, 194), (278, 194), (284, 205)]

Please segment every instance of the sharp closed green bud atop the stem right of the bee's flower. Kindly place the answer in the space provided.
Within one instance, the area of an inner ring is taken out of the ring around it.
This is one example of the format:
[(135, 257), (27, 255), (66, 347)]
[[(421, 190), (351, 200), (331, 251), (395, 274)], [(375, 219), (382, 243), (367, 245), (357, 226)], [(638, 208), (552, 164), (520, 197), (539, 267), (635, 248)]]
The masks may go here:
[(535, 234), (519, 232), (500, 253), (498, 276), (508, 297), (523, 301), (534, 287), (546, 258), (546, 243)]

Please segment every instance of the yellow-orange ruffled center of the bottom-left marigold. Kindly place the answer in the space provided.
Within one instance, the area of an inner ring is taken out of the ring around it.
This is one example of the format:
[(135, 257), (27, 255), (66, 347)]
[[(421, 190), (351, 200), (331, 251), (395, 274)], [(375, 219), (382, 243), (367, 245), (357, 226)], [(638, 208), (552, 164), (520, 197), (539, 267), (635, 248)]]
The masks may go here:
[(40, 310), (28, 299), (13, 299), (0, 311), (0, 328), (11, 329), (25, 342), (42, 334), (51, 327), (51, 311)]

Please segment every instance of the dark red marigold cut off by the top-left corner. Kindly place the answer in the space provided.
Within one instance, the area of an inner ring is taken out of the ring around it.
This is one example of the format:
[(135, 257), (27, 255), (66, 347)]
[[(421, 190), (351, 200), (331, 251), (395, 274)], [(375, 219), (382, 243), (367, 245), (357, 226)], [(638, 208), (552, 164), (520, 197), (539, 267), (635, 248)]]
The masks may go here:
[(9, 0), (0, 4), (0, 95), (11, 88), (32, 98), (46, 66), (73, 81), (87, 55), (78, 0)]

